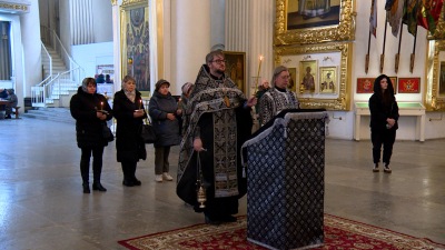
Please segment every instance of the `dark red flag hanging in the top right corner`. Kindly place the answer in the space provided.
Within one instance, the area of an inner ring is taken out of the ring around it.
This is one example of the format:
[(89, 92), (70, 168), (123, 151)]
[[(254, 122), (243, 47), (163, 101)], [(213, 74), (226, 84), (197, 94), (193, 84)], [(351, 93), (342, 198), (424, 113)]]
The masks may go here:
[(444, 0), (419, 0), (417, 24), (434, 34), (443, 4)]

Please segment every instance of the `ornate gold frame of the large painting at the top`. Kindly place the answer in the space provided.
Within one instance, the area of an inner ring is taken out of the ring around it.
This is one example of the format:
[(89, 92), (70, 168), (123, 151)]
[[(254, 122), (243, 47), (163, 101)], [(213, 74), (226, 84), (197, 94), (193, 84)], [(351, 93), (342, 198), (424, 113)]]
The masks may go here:
[(287, 30), (288, 0), (276, 0), (274, 46), (355, 40), (355, 0), (340, 0), (339, 23)]

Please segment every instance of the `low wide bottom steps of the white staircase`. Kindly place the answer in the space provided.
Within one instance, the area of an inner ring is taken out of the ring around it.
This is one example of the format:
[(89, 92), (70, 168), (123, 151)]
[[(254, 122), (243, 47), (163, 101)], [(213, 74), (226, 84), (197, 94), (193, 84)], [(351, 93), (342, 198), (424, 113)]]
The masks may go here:
[(27, 113), (20, 113), (20, 116), (40, 120), (76, 124), (76, 120), (71, 117), (69, 108), (39, 108), (28, 110)]

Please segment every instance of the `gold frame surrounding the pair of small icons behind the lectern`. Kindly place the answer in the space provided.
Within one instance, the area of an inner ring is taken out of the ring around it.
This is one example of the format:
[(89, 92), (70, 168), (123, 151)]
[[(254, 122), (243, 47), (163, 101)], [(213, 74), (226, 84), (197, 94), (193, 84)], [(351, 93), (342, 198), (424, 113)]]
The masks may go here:
[(310, 46), (275, 48), (275, 67), (283, 64), (283, 56), (340, 52), (338, 98), (298, 98), (304, 109), (350, 110), (350, 69), (353, 42), (333, 42)]

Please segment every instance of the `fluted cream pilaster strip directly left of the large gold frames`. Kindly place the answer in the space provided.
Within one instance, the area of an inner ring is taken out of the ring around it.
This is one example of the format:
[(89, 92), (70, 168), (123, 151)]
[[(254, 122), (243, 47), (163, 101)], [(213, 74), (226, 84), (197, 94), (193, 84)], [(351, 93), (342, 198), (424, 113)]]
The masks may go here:
[[(260, 79), (270, 81), (274, 70), (275, 0), (255, 0), (250, 13), (250, 79), (257, 77), (259, 57), (263, 56)], [(259, 82), (258, 82), (259, 84)], [(254, 93), (255, 87), (249, 91)]]

